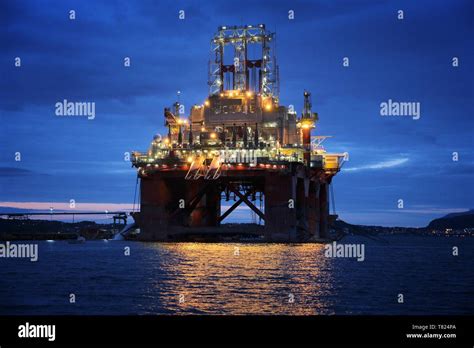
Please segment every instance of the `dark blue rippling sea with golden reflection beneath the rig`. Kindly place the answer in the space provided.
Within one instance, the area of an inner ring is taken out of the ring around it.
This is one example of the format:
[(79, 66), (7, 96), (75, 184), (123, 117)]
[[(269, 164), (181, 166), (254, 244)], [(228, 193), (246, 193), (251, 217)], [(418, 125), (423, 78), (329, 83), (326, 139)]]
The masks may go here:
[(325, 244), (37, 243), (0, 258), (1, 315), (463, 315), (474, 312), (474, 238), (347, 236)]

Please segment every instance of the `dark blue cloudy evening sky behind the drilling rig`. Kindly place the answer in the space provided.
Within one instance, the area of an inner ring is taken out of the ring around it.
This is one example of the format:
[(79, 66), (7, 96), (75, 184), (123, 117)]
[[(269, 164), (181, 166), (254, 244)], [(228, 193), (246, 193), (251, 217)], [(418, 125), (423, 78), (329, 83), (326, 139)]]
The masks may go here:
[[(472, 208), (473, 4), (1, 1), (0, 202), (131, 203), (123, 153), (165, 132), (177, 90), (188, 108), (206, 98), (217, 26), (265, 23), (277, 32), (281, 103), (300, 113), (310, 90), (316, 133), (334, 136), (326, 149), (350, 153), (334, 180), (343, 219), (422, 226)], [(63, 99), (95, 102), (95, 119), (55, 116)], [(380, 116), (388, 99), (420, 102), (421, 118)]]

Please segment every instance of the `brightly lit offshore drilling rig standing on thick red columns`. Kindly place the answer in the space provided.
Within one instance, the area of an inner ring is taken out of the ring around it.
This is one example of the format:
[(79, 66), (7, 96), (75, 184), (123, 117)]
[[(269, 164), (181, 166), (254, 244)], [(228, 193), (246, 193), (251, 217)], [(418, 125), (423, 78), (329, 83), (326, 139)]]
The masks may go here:
[[(318, 115), (309, 92), (299, 117), (279, 104), (274, 45), (275, 33), (263, 24), (218, 28), (208, 98), (189, 117), (179, 101), (165, 108), (167, 136), (155, 136), (146, 153), (132, 153), (140, 179), (140, 211), (132, 213), (139, 239), (329, 237), (329, 184), (345, 157), (326, 153), (327, 137), (311, 136)], [(224, 213), (222, 200), (233, 203)], [(224, 228), (242, 203), (263, 226)]]

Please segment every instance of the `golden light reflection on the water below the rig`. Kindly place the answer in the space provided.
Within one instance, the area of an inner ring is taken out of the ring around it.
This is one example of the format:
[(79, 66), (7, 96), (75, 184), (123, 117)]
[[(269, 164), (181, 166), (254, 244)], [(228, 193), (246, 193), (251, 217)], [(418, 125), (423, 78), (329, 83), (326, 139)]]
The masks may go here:
[(330, 260), (324, 257), (323, 245), (186, 243), (152, 248), (173, 255), (159, 265), (173, 277), (151, 284), (173, 289), (174, 297), (159, 301), (171, 311), (332, 313), (327, 300), (332, 290)]

